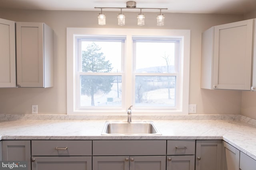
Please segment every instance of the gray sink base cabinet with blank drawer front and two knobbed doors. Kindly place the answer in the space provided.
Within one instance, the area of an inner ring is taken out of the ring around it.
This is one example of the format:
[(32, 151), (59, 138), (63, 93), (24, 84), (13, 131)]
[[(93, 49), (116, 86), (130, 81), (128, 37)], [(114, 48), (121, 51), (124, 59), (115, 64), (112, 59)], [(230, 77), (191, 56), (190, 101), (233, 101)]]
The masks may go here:
[(166, 170), (165, 140), (93, 141), (93, 170)]

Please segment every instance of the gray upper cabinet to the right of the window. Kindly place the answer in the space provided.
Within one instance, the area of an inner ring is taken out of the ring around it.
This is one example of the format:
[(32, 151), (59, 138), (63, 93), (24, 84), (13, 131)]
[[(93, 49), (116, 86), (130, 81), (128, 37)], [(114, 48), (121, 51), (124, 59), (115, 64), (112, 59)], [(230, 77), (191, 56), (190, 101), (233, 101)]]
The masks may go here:
[(201, 88), (250, 90), (255, 86), (253, 23), (254, 19), (238, 21), (202, 33)]

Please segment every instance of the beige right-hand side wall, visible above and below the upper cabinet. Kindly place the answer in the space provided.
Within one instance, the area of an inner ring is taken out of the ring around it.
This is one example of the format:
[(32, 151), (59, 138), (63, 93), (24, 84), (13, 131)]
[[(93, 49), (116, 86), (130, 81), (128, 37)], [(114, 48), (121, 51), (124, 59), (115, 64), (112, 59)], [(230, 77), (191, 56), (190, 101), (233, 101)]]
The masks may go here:
[[(256, 18), (256, 10), (244, 15), (244, 19)], [(255, 52), (254, 52), (255, 53)], [(256, 119), (256, 92), (242, 92), (242, 115)]]

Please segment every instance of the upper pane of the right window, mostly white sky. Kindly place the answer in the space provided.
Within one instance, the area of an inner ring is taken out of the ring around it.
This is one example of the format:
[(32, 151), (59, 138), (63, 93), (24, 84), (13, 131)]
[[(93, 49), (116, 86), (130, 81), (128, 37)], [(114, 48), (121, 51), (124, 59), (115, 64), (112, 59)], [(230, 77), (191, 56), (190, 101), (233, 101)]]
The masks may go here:
[(175, 43), (136, 41), (136, 72), (174, 73)]

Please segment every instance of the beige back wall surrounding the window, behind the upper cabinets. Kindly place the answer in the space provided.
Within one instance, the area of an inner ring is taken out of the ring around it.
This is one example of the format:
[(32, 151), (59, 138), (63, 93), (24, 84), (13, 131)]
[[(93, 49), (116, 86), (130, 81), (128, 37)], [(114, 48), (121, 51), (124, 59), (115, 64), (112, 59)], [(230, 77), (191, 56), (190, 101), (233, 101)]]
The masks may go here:
[[(165, 13), (162, 27), (156, 26), (156, 13), (144, 13), (146, 25), (136, 25), (138, 12), (126, 12), (126, 25), (118, 26), (117, 12), (105, 12), (106, 25), (100, 26), (99, 12), (0, 10), (0, 18), (14, 21), (45, 22), (54, 30), (54, 87), (0, 89), (0, 113), (66, 113), (66, 27), (190, 29), (189, 103), (197, 104), (197, 113), (241, 114), (242, 92), (200, 89), (201, 33), (211, 26), (244, 20), (243, 15)], [(255, 95), (254, 95), (255, 96)], [(255, 97), (254, 97), (255, 98)]]

